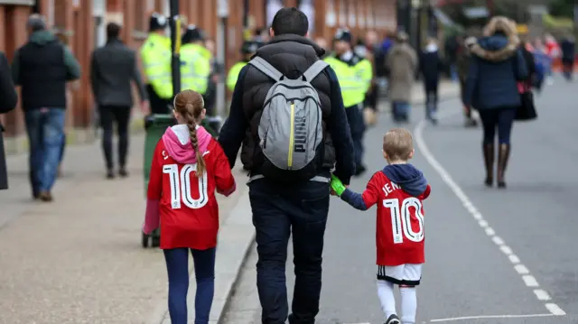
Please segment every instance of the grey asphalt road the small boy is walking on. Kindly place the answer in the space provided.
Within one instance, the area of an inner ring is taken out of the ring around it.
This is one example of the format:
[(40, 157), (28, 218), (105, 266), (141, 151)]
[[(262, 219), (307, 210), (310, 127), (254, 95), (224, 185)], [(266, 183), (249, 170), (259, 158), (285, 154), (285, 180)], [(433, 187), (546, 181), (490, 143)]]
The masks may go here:
[[(539, 119), (514, 125), (506, 190), (483, 185), (481, 130), (463, 127), (459, 100), (443, 101), (437, 126), (422, 122), (424, 107), (414, 105), (406, 125), (415, 138), (412, 163), (433, 190), (424, 201), (426, 264), (416, 323), (578, 323), (576, 90), (578, 83), (556, 79), (536, 96)], [(369, 170), (383, 168), (382, 134), (393, 126), (382, 114), (368, 130)], [(370, 176), (350, 188), (363, 190)], [(252, 248), (223, 323), (260, 323), (255, 263)], [(334, 199), (316, 323), (385, 322), (375, 276), (375, 209), (361, 212)], [(288, 262), (289, 296), (293, 285)]]

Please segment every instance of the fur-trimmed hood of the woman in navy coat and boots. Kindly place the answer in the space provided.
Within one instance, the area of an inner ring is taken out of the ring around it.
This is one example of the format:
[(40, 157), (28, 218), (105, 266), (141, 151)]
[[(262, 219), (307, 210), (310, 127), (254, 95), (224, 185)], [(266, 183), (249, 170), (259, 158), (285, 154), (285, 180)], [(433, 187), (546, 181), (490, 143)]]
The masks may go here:
[(484, 27), (484, 37), (473, 46), (471, 53), (483, 60), (502, 61), (516, 55), (520, 46), (516, 23), (506, 17), (494, 17)]

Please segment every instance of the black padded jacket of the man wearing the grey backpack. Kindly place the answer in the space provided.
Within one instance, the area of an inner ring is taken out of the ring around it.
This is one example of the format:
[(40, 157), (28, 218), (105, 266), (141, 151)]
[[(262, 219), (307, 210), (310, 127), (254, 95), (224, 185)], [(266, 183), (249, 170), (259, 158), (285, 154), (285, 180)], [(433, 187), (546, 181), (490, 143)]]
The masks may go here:
[[(294, 34), (275, 36), (256, 52), (256, 56), (267, 60), (288, 79), (300, 78), (323, 54), (321, 47)], [(259, 160), (262, 154), (256, 144), (257, 129), (267, 91), (274, 83), (273, 79), (251, 65), (241, 69), (227, 122), (219, 134), (219, 142), (231, 168), (235, 165), (242, 143), (241, 162), (251, 171), (251, 175), (260, 174)], [(333, 69), (328, 67), (312, 79), (311, 84), (319, 93), (323, 112), (325, 155), (324, 170), (320, 175), (329, 176), (329, 171), (335, 165), (335, 175), (348, 184), (355, 166), (350, 125), (345, 115), (339, 81)]]

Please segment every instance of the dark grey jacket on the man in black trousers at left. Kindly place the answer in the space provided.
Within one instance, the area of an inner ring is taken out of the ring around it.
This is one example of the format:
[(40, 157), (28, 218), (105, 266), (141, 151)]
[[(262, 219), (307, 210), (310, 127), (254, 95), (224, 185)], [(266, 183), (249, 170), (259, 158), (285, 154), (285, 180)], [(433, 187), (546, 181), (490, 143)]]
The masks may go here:
[(133, 106), (131, 81), (135, 81), (141, 100), (146, 100), (135, 51), (112, 39), (92, 52), (90, 85), (99, 106)]

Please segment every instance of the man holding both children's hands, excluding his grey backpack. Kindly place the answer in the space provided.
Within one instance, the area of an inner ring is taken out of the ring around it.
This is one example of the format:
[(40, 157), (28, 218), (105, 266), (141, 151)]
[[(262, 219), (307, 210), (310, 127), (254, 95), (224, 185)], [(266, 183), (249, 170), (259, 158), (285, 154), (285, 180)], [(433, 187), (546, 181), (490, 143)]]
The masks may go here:
[[(306, 15), (298, 9), (279, 10), (270, 30), (272, 39), (256, 51), (256, 56), (268, 61), (287, 79), (301, 78), (324, 54), (322, 48), (307, 38), (308, 27)], [(247, 136), (253, 137), (248, 142), (260, 142), (259, 118), (267, 91), (274, 83), (252, 65), (241, 69), (230, 113), (219, 136), (231, 168), (235, 166), (247, 130), (250, 130)], [(242, 147), (247, 154), (242, 155), (241, 162), (250, 170), (249, 199), (256, 227), (257, 288), (263, 323), (284, 323), (287, 319), (285, 263), (290, 233), (293, 233), (296, 281), (289, 323), (315, 321), (322, 288), (323, 236), (329, 213), (331, 169), (335, 166), (334, 174), (346, 185), (355, 172), (350, 126), (337, 76), (327, 67), (311, 84), (321, 100), (325, 138), (323, 168), (316, 177), (290, 186), (270, 181), (259, 171), (262, 165), (259, 145)]]

